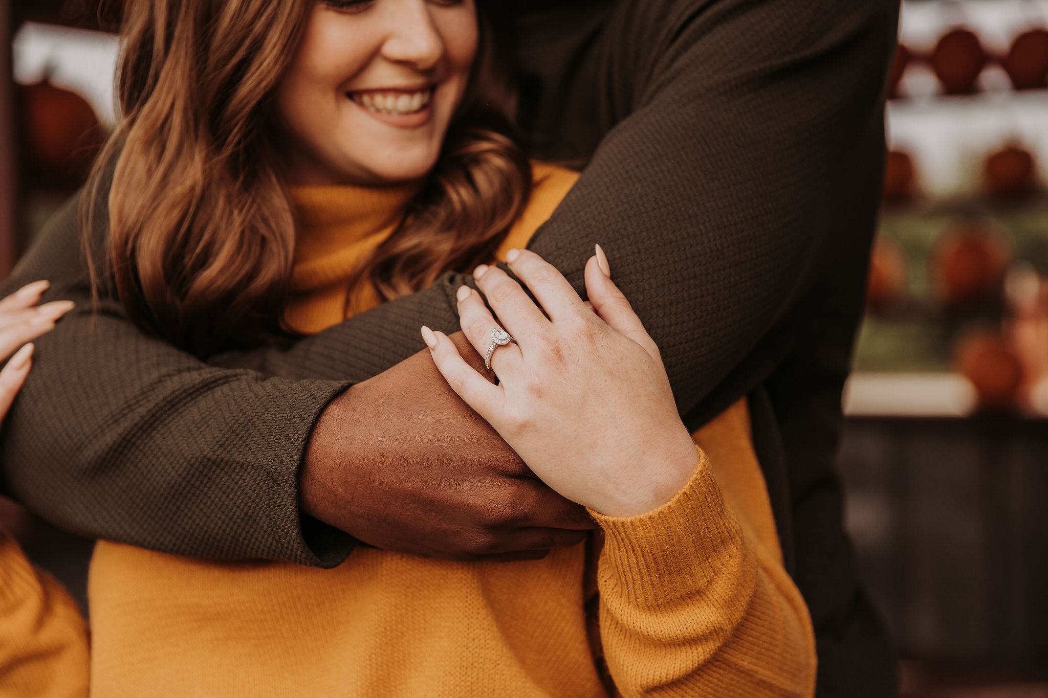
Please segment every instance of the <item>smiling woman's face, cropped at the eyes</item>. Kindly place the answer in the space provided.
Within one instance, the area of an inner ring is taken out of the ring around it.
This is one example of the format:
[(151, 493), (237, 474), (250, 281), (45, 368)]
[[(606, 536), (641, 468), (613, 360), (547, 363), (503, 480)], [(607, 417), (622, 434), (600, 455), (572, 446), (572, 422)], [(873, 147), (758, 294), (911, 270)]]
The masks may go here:
[(290, 183), (424, 177), (477, 43), (474, 0), (318, 0), (277, 88)]

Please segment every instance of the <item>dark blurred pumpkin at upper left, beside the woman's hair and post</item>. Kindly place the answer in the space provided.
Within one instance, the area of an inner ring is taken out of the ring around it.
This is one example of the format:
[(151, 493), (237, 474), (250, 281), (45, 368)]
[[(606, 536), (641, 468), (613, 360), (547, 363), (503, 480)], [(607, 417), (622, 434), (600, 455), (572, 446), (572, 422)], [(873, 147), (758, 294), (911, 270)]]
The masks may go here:
[(45, 78), (22, 88), (22, 106), (31, 166), (49, 179), (85, 178), (105, 138), (91, 105)]

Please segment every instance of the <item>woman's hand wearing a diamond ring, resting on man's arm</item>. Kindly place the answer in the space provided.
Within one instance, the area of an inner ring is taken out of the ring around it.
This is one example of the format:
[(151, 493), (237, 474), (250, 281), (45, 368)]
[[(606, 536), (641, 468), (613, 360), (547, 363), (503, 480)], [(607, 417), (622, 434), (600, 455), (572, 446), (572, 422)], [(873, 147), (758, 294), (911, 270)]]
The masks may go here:
[(495, 329), (516, 340), (492, 355), (499, 385), (468, 366), (445, 335), (423, 328), (422, 337), (452, 389), (547, 485), (602, 514), (635, 516), (672, 499), (698, 458), (658, 347), (612, 283), (599, 247), (597, 254), (586, 265), (592, 311), (527, 250), (506, 258), (541, 309), (497, 267), (478, 267), (474, 276), (501, 323), (476, 291), (459, 289), (462, 330), (481, 355)]

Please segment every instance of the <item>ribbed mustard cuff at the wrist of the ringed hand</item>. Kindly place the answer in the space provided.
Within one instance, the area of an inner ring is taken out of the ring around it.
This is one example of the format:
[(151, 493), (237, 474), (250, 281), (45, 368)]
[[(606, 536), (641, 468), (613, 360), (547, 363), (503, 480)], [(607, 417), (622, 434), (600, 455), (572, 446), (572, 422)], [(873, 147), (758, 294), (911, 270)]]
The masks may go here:
[(742, 532), (728, 513), (706, 454), (673, 499), (629, 518), (590, 512), (606, 541), (602, 587), (631, 606), (655, 608), (707, 587), (743, 555)]

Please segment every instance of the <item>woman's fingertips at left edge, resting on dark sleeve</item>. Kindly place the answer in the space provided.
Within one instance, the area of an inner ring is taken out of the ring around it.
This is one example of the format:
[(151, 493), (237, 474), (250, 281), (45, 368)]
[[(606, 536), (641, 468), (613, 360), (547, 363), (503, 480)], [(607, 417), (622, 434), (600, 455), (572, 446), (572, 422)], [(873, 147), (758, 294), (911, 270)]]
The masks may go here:
[(7, 415), (15, 396), (29, 375), (32, 344), (27, 342), (50, 332), (58, 319), (73, 308), (74, 303), (69, 300), (37, 307), (48, 286), (47, 282), (35, 282), (0, 300), (0, 361), (10, 357), (0, 370), (0, 421)]

